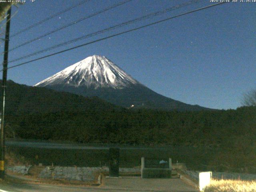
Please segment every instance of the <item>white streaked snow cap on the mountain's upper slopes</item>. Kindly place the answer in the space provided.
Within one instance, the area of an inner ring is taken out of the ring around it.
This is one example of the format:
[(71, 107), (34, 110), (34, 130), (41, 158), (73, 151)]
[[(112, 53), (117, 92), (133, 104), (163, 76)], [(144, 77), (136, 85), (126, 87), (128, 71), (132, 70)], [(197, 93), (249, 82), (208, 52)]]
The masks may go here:
[(68, 86), (86, 86), (97, 89), (110, 87), (122, 89), (131, 84), (139, 84), (124, 70), (116, 66), (105, 56), (93, 55), (73, 64), (34, 86), (54, 86), (64, 84)]

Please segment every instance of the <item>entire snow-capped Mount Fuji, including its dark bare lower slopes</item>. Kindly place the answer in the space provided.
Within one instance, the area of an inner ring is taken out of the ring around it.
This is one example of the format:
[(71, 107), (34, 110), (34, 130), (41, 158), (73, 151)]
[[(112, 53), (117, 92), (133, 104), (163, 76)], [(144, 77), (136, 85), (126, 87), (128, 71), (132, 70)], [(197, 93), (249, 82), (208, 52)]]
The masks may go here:
[(82, 96), (97, 96), (127, 108), (211, 110), (162, 96), (147, 88), (105, 56), (89, 56), (34, 86)]

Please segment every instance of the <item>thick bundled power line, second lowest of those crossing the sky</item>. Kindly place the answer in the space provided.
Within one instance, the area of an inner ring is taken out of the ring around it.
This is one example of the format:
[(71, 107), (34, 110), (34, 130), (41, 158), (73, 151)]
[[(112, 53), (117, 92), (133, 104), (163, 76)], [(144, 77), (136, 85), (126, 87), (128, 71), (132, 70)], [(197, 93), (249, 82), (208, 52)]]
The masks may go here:
[(26, 55), (26, 56), (22, 56), (22, 57), (20, 57), (20, 58), (16, 58), (16, 59), (14, 59), (14, 60), (9, 61), (9, 63), (11, 63), (11, 62), (16, 62), (16, 61), (22, 60), (22, 59), (24, 59), (24, 58), (29, 58), (29, 57), (31, 57), (31, 56), (35, 56), (35, 55), (37, 55), (37, 54), (40, 54), (40, 53), (43, 53), (43, 52), (46, 52), (46, 51), (49, 51), (49, 50), (58, 48), (58, 47), (60, 47), (60, 46), (64, 46), (64, 45), (67, 45), (67, 44), (70, 44), (70, 43), (73, 43), (73, 42), (76, 42), (76, 41), (79, 41), (79, 40), (82, 40), (82, 39), (86, 39), (86, 38), (89, 38), (89, 37), (92, 37), (92, 36), (95, 36), (95, 35), (98, 35), (98, 34), (102, 34), (102, 33), (104, 33), (104, 32), (108, 32), (108, 31), (110, 31), (110, 30), (113, 30), (113, 29), (116, 29), (116, 28), (119, 28), (119, 27), (122, 27), (122, 26), (126, 26), (126, 25), (128, 25), (128, 24), (132, 24), (132, 23), (134, 23), (134, 22), (138, 22), (138, 21), (145, 20), (145, 19), (148, 19), (148, 18), (151, 18), (151, 17), (154, 17), (154, 16), (158, 16), (158, 15), (160, 15), (160, 14), (164, 14), (164, 13), (166, 13), (166, 12), (170, 12), (170, 11), (172, 11), (172, 10), (175, 10), (175, 9), (178, 9), (178, 8), (181, 8), (181, 7), (184, 7), (184, 6), (188, 6), (188, 5), (190, 5), (190, 4), (194, 4), (194, 3), (198, 2), (198, 1), (200, 1), (200, 0), (191, 0), (191, 1), (189, 1), (189, 2), (186, 2), (186, 3), (183, 3), (183, 4), (179, 4), (179, 5), (176, 5), (176, 6), (172, 6), (172, 7), (170, 7), (170, 8), (166, 8), (166, 9), (161, 10), (161, 11), (153, 12), (153, 13), (144, 15), (144, 16), (142, 16), (142, 17), (139, 17), (139, 18), (136, 18), (136, 19), (133, 19), (133, 20), (129, 20), (129, 21), (126, 21), (126, 22), (122, 22), (122, 23), (120, 23), (120, 24), (111, 26), (111, 27), (109, 27), (109, 28), (105, 28), (105, 29), (103, 29), (103, 30), (99, 30), (99, 31), (97, 31), (97, 32), (90, 33), (90, 34), (88, 34), (88, 35), (86, 35), (86, 36), (81, 36), (81, 37), (79, 37), (79, 38), (74, 38), (74, 39), (72, 39), (72, 40), (69, 40), (69, 41), (66, 41), (66, 42), (57, 44), (57, 45), (55, 45), (55, 46), (51, 46), (51, 47), (49, 47), (49, 48), (46, 48), (46, 49), (43, 49), (43, 50), (34, 52), (34, 53), (32, 53), (32, 54), (28, 54), (28, 55)]

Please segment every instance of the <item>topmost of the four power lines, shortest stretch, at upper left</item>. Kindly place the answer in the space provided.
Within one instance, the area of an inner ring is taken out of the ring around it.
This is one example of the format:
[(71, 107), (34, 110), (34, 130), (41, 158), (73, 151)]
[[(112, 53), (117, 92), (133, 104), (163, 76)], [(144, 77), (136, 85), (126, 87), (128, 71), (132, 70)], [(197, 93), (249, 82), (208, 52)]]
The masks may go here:
[(18, 34), (21, 34), (21, 33), (25, 32), (25, 31), (27, 31), (27, 30), (30, 30), (31, 28), (33, 28), (33, 27), (35, 27), (35, 26), (38, 26), (38, 25), (40, 25), (40, 24), (42, 24), (42, 23), (44, 23), (44, 22), (46, 22), (46, 21), (48, 21), (48, 20), (50, 20), (50, 19), (52, 19), (52, 18), (58, 16), (58, 15), (60, 15), (60, 14), (63, 14), (63, 13), (65, 13), (65, 12), (67, 12), (67, 11), (73, 9), (73, 8), (76, 8), (76, 7), (82, 5), (82, 4), (86, 3), (86, 2), (89, 2), (89, 1), (90, 1), (90, 0), (83, 0), (82, 2), (80, 2), (80, 3), (78, 3), (78, 4), (74, 5), (74, 6), (68, 7), (68, 8), (66, 8), (65, 10), (62, 10), (61, 12), (58, 12), (58, 13), (56, 13), (56, 14), (53, 14), (53, 15), (51, 15), (51, 16), (49, 16), (49, 17), (47, 17), (47, 18), (45, 18), (45, 19), (43, 19), (43, 20), (41, 20), (41, 21), (39, 21), (39, 22), (37, 22), (37, 23), (35, 23), (35, 24), (32, 24), (32, 25), (28, 26), (27, 28), (24, 28), (24, 29), (22, 29), (22, 30), (20, 30), (20, 31), (14, 33), (14, 34), (12, 34), (12, 35), (10, 36), (10, 38), (12, 38), (12, 37), (14, 37), (14, 36), (16, 36), (16, 35), (18, 35)]

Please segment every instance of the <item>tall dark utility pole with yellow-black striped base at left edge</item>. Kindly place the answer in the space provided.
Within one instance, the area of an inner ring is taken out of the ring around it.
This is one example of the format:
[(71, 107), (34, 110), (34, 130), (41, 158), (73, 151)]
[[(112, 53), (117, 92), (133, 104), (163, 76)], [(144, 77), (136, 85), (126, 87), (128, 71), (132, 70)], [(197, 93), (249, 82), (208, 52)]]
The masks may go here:
[(7, 12), (4, 42), (4, 62), (3, 62), (3, 80), (2, 80), (2, 109), (0, 118), (1, 130), (1, 147), (0, 147), (0, 178), (4, 179), (4, 106), (6, 94), (6, 81), (7, 81), (7, 67), (8, 67), (8, 47), (9, 47), (9, 34), (10, 34), (10, 21), (11, 21), (11, 7)]

